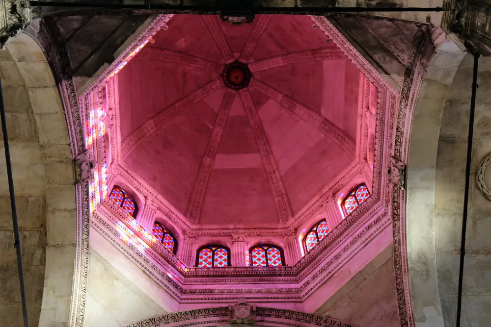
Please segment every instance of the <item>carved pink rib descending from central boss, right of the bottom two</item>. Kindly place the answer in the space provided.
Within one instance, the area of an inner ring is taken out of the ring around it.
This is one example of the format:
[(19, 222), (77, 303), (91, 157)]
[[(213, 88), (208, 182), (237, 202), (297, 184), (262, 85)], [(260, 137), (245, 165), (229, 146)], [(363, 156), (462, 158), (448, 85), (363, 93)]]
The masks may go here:
[(259, 118), (259, 114), (257, 113), (257, 109), (254, 106), (249, 91), (243, 89), (239, 94), (241, 95), (242, 103), (246, 109), (247, 118), (249, 119), (249, 124), (252, 128), (254, 138), (256, 139), (259, 154), (261, 155), (261, 160), (266, 169), (266, 174), (268, 175), (280, 221), (281, 223), (286, 223), (290, 217), (293, 217), (292, 205), (288, 198), (288, 194), (286, 193), (285, 184), (281, 178), (268, 136), (266, 135), (261, 118)]

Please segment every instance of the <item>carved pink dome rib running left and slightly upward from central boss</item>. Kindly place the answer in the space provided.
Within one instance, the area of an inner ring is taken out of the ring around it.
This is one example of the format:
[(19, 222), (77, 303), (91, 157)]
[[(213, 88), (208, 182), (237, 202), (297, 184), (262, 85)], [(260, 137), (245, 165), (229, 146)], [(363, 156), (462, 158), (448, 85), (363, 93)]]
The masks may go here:
[(177, 64), (183, 64), (186, 66), (203, 68), (210, 70), (215, 73), (220, 73), (223, 65), (206, 60), (203, 58), (196, 57), (191, 54), (174, 51), (174, 50), (163, 50), (163, 49), (153, 49), (153, 48), (143, 48), (135, 59), (142, 60), (154, 60), (154, 61), (165, 61)]

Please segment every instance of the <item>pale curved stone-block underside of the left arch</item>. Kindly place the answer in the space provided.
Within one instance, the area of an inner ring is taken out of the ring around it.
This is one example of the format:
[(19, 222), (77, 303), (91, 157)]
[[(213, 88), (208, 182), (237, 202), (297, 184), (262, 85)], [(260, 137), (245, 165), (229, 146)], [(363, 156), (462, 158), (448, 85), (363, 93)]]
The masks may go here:
[[(76, 213), (75, 211), (77, 203), (72, 154), (76, 153), (77, 150), (74, 149), (75, 145), (69, 137), (70, 127), (67, 126), (65, 117), (68, 110), (63, 106), (55, 76), (37, 40), (26, 33), (21, 33), (4, 51), (11, 54), (26, 87), (26, 101), (28, 101), (35, 118), (35, 125), (31, 128), (37, 129), (39, 137), (37, 142), (40, 147), (43, 147), (41, 164), (43, 164), (45, 171), (46, 226), (48, 229), (45, 246), (46, 257), (51, 259), (45, 262), (45, 275), (41, 280), (43, 280), (45, 292), (51, 290), (55, 293), (51, 296), (55, 297), (53, 301), (56, 304), (55, 307), (51, 304), (47, 307), (45, 302), (41, 303), (40, 301), (40, 317), (36, 318), (46, 319), (50, 316), (50, 312), (59, 306), (69, 309), (63, 309), (61, 312), (66, 313), (58, 315), (52, 322), (69, 324), (72, 321), (72, 312), (76, 310), (71, 296), (71, 283), (72, 280), (75, 280), (74, 275), (76, 275), (73, 266), (76, 261), (75, 248), (76, 245), (80, 244), (75, 232), (75, 229), (79, 228), (76, 226), (78, 225), (77, 216), (80, 212)], [(47, 214), (47, 212), (57, 211), (64, 212), (62, 216), (66, 219), (64, 219), (63, 225), (60, 225), (60, 221), (50, 221), (55, 219), (57, 214)], [(66, 215), (67, 211), (70, 212), (69, 215)], [(54, 228), (68, 228), (73, 232), (63, 233), (63, 237), (60, 239), (57, 236), (59, 233), (53, 230)], [(56, 245), (53, 246), (53, 244)], [(75, 269), (77, 271), (77, 267)], [(66, 278), (69, 283), (56, 287), (59, 285), (58, 278)], [(69, 287), (66, 288), (68, 285)], [(36, 288), (39, 286), (36, 285)], [(31, 287), (34, 285), (31, 284)], [(75, 288), (74, 290), (77, 292)], [(28, 289), (26, 291), (29, 292)], [(28, 298), (31, 297), (28, 295)], [(29, 302), (27, 304), (29, 305)]]

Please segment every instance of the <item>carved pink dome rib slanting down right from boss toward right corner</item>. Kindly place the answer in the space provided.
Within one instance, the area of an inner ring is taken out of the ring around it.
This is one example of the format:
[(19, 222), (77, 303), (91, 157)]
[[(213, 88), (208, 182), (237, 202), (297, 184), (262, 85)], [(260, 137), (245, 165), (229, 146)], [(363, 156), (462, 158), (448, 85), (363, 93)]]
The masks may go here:
[(327, 118), (256, 78), (251, 79), (249, 88), (263, 92), (299, 116), (307, 124), (318, 128), (324, 135), (339, 144), (348, 154), (355, 156), (355, 141)]

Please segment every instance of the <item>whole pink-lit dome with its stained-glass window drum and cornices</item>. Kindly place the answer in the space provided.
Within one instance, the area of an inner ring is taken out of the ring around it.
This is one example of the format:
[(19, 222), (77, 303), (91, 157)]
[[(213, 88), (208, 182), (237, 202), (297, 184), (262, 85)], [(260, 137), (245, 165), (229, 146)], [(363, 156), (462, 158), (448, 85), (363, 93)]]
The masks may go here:
[(324, 17), (160, 15), (80, 103), (91, 227), (176, 306), (314, 312), (390, 245), (396, 94)]

